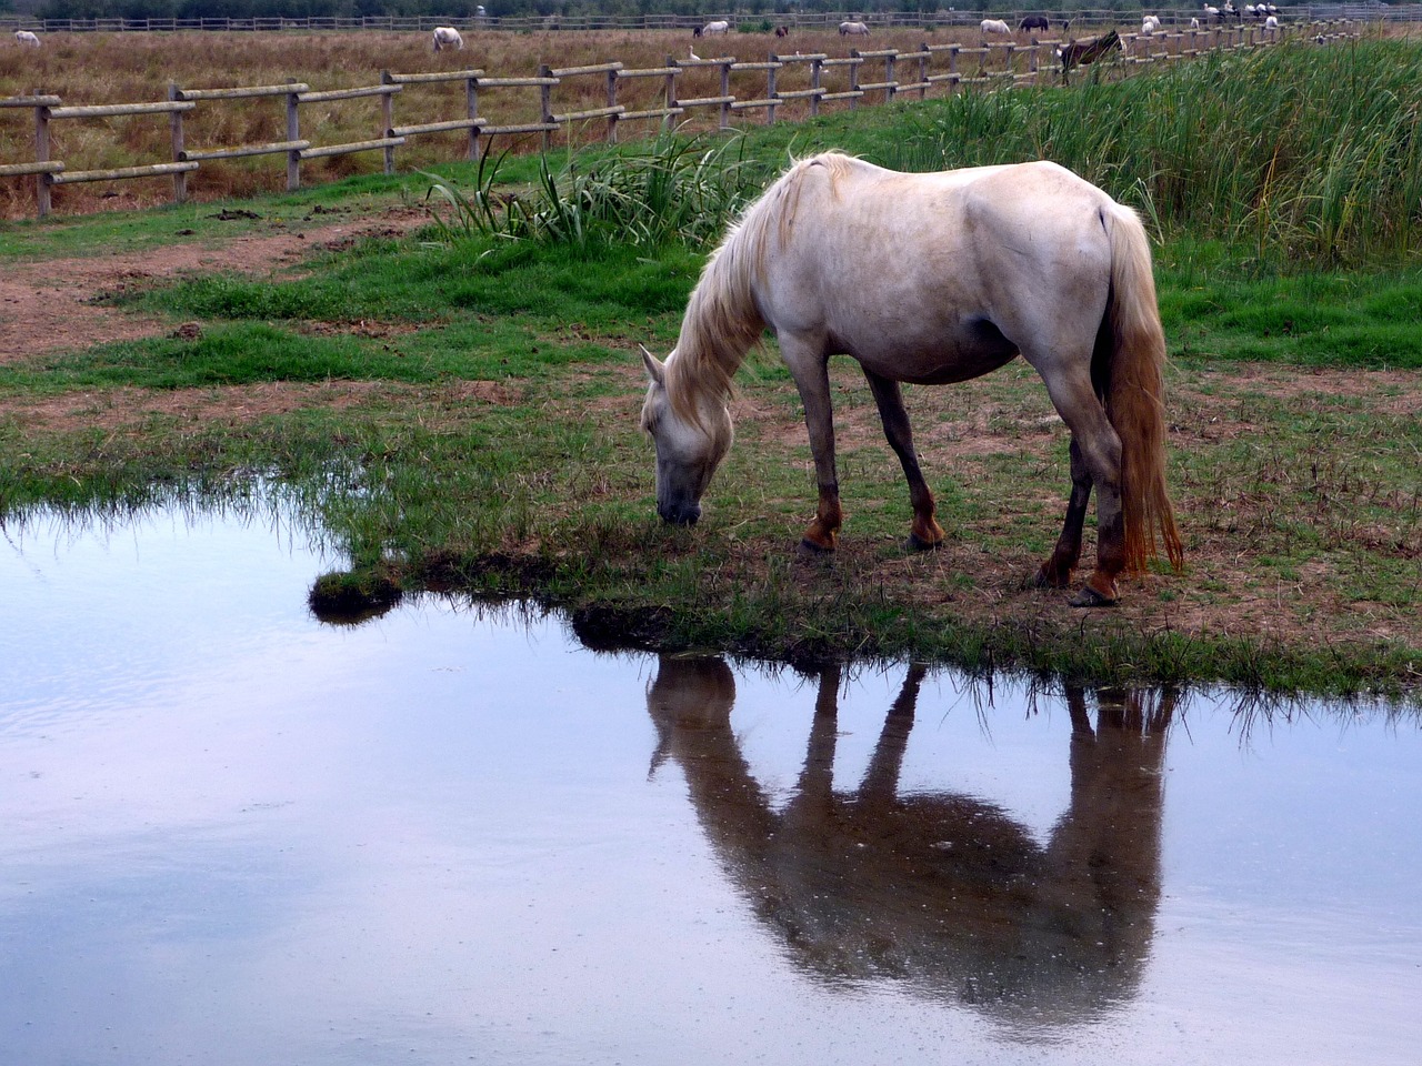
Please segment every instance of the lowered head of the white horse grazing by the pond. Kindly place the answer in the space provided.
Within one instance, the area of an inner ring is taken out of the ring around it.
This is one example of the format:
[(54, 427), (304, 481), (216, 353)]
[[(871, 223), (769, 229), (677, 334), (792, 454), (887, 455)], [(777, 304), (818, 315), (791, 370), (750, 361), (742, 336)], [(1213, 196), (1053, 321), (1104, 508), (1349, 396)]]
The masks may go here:
[[(641, 428), (657, 445), (657, 513), (664, 522), (690, 526), (701, 517), (701, 495), (715, 468), (731, 449), (731, 412), (724, 399), (693, 398), (673, 404), (667, 388), (667, 362), (641, 350), (651, 384), (641, 407)], [(678, 411), (678, 407), (683, 407)]]

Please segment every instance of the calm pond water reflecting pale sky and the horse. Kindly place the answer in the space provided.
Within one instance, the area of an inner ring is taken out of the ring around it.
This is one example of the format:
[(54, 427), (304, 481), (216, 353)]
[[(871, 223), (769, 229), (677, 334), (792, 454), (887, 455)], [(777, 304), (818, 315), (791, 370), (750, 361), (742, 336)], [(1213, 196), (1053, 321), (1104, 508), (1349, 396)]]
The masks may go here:
[(1422, 729), (0, 544), (0, 1063), (1413, 1063)]

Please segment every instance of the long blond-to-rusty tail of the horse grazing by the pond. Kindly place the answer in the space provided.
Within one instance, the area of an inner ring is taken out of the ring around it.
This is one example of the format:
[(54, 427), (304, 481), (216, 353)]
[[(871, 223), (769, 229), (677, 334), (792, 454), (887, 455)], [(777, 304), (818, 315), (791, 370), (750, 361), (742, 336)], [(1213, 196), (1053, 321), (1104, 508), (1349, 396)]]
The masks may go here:
[(1175, 570), (1185, 549), (1165, 483), (1165, 331), (1150, 269), (1150, 240), (1139, 216), (1113, 205), (1111, 235), (1111, 333), (1106, 416), (1121, 438), (1121, 510), (1126, 570), (1140, 573), (1159, 554), (1156, 532)]

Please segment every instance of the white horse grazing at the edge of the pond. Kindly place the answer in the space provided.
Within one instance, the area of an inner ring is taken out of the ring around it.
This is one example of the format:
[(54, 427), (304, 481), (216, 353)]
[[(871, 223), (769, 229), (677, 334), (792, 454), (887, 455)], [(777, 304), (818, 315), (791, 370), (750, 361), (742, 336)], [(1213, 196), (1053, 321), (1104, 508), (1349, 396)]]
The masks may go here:
[(1071, 431), (1071, 497), (1035, 581), (1064, 587), (1098, 492), (1096, 567), (1074, 605), (1113, 604), (1116, 577), (1183, 560), (1165, 483), (1162, 365), (1150, 243), (1139, 217), (1049, 162), (897, 173), (838, 152), (786, 171), (731, 229), (660, 362), (641, 425), (657, 512), (691, 524), (731, 448), (731, 379), (762, 331), (805, 407), (819, 506), (805, 546), (832, 550), (843, 513), (828, 362), (857, 360), (913, 505), (910, 542), (944, 539), (899, 382), (967, 381), (1025, 358)]

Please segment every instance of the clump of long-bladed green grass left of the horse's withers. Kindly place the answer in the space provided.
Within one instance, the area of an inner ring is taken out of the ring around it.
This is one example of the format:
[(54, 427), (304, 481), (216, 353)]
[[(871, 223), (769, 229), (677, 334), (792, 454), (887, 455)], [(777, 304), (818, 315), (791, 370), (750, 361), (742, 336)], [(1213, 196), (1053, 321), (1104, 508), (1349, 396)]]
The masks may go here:
[(479, 161), (472, 192), (425, 175), (427, 199), (442, 200), (435, 215), (444, 240), (479, 236), (563, 244), (579, 250), (631, 244), (653, 250), (697, 246), (718, 237), (757, 192), (745, 173), (744, 138), (704, 148), (700, 138), (664, 136), (646, 151), (619, 154), (580, 169), (576, 159), (557, 173), (547, 156), (526, 196), (495, 189), (508, 151)]

